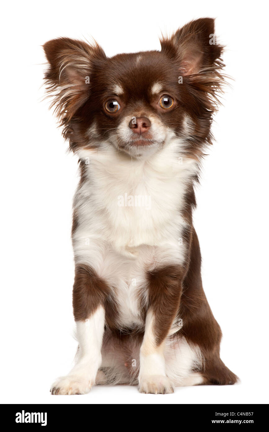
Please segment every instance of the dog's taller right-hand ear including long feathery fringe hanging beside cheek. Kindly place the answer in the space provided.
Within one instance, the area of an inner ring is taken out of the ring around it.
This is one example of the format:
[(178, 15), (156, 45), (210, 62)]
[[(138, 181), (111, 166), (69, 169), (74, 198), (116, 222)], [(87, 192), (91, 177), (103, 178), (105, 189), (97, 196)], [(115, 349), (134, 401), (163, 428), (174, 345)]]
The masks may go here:
[(212, 143), (210, 124), (218, 109), (226, 75), (222, 73), (223, 46), (217, 44), (212, 18), (200, 18), (178, 29), (171, 38), (163, 38), (162, 51), (178, 63), (178, 74), (192, 107), (192, 118), (206, 131), (207, 143)]

